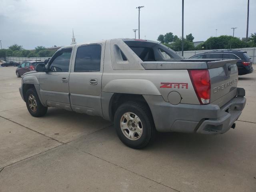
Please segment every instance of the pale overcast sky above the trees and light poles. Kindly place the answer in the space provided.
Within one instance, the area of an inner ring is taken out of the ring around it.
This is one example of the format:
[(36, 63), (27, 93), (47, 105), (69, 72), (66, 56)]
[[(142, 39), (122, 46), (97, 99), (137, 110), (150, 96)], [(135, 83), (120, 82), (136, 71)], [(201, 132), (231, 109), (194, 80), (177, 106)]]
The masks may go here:
[[(140, 14), (140, 38), (182, 34), (182, 0), (0, 0), (0, 40), (25, 49), (76, 42), (134, 38)], [(249, 35), (256, 32), (256, 0), (250, 1)], [(184, 0), (184, 36), (194, 41), (219, 35), (246, 36), (247, 0)], [(138, 32), (137, 32), (138, 38)]]

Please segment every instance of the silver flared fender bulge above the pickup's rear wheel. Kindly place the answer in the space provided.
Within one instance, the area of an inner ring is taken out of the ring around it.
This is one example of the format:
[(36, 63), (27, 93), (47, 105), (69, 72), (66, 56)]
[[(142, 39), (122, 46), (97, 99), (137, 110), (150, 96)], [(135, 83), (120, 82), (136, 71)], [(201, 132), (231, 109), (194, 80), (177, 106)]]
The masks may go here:
[(102, 92), (126, 93), (140, 95), (161, 95), (156, 86), (144, 79), (115, 79), (109, 81)]

